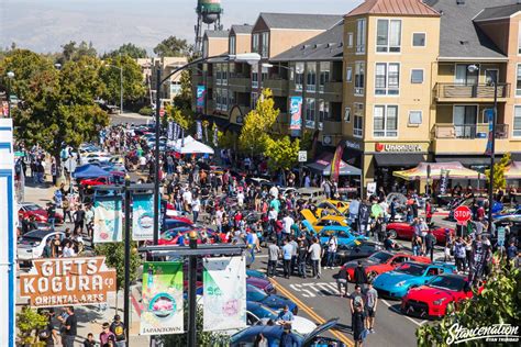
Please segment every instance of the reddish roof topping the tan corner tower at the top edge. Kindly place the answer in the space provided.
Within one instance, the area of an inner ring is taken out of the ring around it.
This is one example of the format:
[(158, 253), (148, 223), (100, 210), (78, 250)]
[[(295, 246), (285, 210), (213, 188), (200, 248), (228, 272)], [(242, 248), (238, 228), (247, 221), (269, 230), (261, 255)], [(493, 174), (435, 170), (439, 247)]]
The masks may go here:
[(359, 14), (440, 15), (421, 0), (366, 0), (345, 16)]

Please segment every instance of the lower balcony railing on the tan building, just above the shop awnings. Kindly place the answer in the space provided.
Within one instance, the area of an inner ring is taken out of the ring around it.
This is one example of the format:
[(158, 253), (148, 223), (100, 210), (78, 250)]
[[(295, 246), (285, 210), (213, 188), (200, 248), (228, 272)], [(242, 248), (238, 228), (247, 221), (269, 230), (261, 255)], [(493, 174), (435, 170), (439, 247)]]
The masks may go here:
[[(436, 124), (435, 138), (487, 138), (488, 124)], [(508, 138), (508, 124), (496, 124), (496, 138)]]

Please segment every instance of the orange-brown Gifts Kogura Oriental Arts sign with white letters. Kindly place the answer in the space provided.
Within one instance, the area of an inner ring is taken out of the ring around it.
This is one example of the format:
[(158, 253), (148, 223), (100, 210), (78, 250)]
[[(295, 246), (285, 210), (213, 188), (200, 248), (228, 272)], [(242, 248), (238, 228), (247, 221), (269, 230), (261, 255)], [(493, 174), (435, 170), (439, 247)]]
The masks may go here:
[(104, 257), (35, 259), (20, 273), (20, 296), (33, 307), (99, 304), (108, 293), (115, 293), (115, 269)]

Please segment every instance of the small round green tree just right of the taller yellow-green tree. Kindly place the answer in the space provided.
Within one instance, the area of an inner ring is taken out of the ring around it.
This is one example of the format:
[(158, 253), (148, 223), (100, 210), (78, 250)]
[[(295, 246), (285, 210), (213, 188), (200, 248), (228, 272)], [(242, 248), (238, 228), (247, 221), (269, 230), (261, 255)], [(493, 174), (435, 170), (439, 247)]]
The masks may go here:
[(268, 138), (264, 155), (268, 158), (268, 167), (273, 171), (289, 170), (297, 164), (300, 141), (291, 141), (289, 136), (280, 139)]

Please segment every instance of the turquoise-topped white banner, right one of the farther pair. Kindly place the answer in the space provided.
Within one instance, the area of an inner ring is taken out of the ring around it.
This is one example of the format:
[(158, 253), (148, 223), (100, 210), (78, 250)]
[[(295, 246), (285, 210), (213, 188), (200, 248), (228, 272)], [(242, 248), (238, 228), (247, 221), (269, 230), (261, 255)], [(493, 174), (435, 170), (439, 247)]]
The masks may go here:
[(154, 195), (134, 194), (132, 200), (132, 239), (154, 238)]

